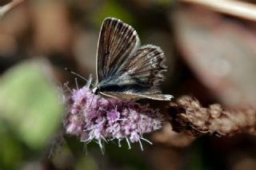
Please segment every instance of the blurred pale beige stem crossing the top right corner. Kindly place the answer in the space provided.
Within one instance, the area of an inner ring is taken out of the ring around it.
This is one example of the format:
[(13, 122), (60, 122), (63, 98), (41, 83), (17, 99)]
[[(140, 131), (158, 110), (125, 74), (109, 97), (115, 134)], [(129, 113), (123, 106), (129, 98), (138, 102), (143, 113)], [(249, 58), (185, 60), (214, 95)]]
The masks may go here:
[(248, 2), (231, 0), (180, 0), (180, 2), (198, 4), (223, 14), (230, 14), (238, 18), (244, 18), (254, 22), (256, 21), (256, 6)]

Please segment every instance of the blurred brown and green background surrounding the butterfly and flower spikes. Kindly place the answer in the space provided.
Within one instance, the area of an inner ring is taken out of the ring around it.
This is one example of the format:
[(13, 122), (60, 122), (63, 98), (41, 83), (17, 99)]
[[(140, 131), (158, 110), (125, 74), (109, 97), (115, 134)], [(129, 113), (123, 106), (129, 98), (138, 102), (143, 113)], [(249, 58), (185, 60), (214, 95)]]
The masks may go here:
[[(154, 144), (143, 144), (143, 152), (139, 144), (130, 150), (125, 143), (107, 144), (105, 155), (97, 144), (90, 143), (86, 154), (77, 138), (58, 137), (62, 87), (75, 85), (64, 68), (95, 77), (106, 17), (133, 26), (142, 45), (164, 50), (164, 93), (228, 109), (254, 107), (253, 0), (0, 0), (0, 6), (0, 169), (256, 169), (255, 136), (243, 134), (195, 139), (165, 125), (146, 136)], [(168, 103), (160, 105), (165, 112)], [(57, 147), (49, 157), (53, 140)]]

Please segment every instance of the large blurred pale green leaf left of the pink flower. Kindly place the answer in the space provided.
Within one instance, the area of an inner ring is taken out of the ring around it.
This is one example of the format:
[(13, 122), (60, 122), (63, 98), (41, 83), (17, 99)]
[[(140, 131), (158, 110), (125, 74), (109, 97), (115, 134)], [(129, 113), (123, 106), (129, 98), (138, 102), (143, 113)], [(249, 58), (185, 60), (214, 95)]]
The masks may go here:
[(0, 121), (33, 149), (45, 147), (62, 122), (63, 105), (49, 72), (46, 62), (26, 61), (0, 81)]

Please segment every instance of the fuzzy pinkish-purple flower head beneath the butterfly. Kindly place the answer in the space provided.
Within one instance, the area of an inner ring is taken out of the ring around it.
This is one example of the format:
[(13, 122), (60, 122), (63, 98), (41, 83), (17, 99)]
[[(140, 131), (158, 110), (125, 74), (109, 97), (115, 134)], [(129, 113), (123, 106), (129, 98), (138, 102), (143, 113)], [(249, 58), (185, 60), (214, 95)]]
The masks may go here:
[(67, 97), (66, 133), (78, 136), (86, 144), (97, 140), (100, 148), (103, 141), (117, 139), (120, 146), (125, 139), (130, 148), (130, 142), (139, 142), (142, 147), (141, 140), (146, 140), (143, 134), (162, 128), (164, 117), (157, 109), (95, 95), (89, 86), (88, 83), (82, 89), (73, 89)]

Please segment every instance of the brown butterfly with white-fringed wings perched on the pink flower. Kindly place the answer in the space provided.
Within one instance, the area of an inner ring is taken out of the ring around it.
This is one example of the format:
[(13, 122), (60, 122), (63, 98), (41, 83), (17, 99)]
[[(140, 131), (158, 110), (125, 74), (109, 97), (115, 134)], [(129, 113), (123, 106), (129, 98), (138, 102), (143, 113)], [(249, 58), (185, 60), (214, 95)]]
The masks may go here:
[(117, 18), (105, 18), (98, 39), (97, 80), (92, 92), (125, 101), (147, 98), (170, 101), (158, 85), (164, 80), (162, 49), (142, 45), (133, 27)]

